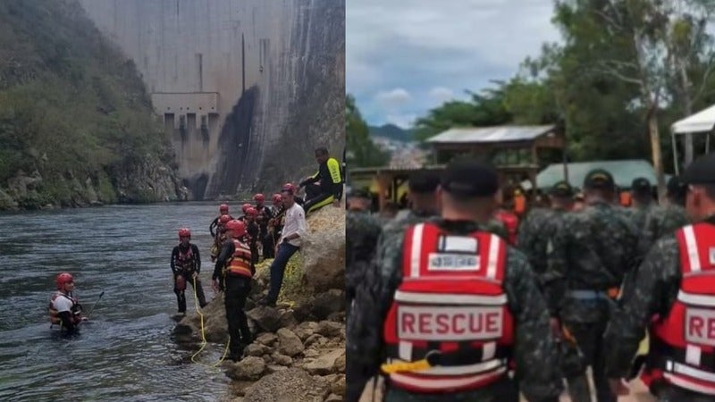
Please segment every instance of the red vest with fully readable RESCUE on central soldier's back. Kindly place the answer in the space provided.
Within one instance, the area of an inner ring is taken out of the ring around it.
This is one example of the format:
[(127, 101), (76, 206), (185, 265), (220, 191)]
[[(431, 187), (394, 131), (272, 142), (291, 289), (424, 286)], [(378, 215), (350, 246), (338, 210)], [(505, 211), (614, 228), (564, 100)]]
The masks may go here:
[(431, 223), (405, 233), (402, 283), (384, 322), (388, 361), (439, 355), (424, 371), (391, 373), (419, 393), (482, 388), (506, 375), (513, 320), (504, 278), (507, 244), (496, 235), (452, 235)]

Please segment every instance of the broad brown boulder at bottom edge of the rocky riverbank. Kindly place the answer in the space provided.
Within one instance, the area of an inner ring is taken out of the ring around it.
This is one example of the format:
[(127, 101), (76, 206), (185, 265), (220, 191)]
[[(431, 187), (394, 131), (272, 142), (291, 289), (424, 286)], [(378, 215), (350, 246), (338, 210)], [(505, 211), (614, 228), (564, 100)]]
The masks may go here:
[(246, 389), (244, 402), (323, 402), (331, 389), (306, 371), (290, 368), (266, 375)]

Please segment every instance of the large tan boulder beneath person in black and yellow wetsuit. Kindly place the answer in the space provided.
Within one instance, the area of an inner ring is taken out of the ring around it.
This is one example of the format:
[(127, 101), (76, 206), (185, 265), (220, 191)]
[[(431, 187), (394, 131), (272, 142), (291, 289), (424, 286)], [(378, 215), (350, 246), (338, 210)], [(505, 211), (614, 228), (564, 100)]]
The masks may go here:
[(345, 209), (327, 205), (307, 217), (303, 282), (313, 294), (345, 289)]

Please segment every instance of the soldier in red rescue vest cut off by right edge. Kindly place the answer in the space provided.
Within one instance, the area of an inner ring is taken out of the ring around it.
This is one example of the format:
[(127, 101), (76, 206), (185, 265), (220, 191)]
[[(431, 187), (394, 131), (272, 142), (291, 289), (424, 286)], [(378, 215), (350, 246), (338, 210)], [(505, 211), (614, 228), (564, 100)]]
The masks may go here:
[(656, 241), (624, 285), (604, 343), (615, 394), (644, 335), (651, 348), (641, 379), (660, 402), (715, 400), (715, 154), (691, 163), (686, 211), (695, 222)]

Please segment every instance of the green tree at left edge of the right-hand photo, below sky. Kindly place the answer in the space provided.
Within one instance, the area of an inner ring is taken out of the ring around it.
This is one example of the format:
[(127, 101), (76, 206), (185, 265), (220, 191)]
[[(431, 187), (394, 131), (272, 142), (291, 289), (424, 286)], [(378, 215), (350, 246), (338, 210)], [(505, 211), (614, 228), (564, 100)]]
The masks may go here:
[(349, 94), (345, 96), (345, 136), (346, 158), (350, 166), (376, 167), (390, 162), (390, 154), (374, 145), (367, 123), (355, 105), (355, 98)]

